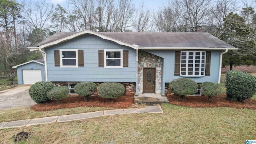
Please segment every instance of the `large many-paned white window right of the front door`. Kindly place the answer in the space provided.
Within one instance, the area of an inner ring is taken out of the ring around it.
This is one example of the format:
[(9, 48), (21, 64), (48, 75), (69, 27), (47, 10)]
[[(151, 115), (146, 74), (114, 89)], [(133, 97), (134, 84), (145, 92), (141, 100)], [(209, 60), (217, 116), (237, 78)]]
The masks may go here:
[(182, 51), (180, 76), (204, 76), (206, 52)]

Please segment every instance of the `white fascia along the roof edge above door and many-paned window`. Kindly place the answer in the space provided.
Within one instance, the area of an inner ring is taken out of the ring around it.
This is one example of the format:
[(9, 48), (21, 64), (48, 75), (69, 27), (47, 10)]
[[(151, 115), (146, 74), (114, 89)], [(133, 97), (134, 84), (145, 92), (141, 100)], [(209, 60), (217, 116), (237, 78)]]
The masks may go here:
[(139, 50), (238, 50), (238, 48), (139, 47)]

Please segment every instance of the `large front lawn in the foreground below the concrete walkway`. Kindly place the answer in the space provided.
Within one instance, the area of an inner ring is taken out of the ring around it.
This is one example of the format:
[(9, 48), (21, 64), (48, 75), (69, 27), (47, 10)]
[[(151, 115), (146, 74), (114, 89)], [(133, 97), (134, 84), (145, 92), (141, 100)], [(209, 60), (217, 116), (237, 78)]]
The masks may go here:
[(0, 130), (0, 143), (13, 135), (32, 135), (27, 144), (241, 144), (256, 138), (256, 111), (187, 108), (162, 104), (163, 114), (122, 114)]

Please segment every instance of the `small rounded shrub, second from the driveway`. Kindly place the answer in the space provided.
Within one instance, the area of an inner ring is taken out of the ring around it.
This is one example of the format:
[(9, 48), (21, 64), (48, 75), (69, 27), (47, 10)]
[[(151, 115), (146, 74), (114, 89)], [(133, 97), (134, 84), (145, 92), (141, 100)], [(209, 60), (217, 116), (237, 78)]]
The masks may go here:
[(50, 100), (57, 100), (58, 104), (64, 98), (68, 98), (69, 88), (67, 86), (56, 86), (47, 93)]

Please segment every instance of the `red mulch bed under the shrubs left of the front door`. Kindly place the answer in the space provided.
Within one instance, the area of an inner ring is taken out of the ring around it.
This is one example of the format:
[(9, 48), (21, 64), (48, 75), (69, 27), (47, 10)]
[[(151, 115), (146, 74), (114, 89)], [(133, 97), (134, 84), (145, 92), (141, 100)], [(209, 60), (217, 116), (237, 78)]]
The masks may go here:
[(76, 108), (81, 106), (87, 107), (112, 107), (112, 108), (128, 108), (133, 106), (134, 95), (120, 96), (119, 98), (109, 100), (100, 96), (89, 96), (89, 101), (84, 101), (82, 96), (74, 96), (63, 99), (60, 104), (56, 100), (52, 100), (45, 104), (35, 104), (30, 108), (36, 111), (56, 110), (60, 108)]

